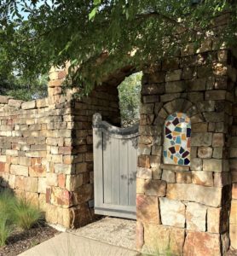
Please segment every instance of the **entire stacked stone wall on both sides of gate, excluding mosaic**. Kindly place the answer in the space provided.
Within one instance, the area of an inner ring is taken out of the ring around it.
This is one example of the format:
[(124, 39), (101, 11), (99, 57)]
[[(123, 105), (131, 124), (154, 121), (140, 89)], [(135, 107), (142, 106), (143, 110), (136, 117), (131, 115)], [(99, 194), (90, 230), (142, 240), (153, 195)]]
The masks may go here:
[[(234, 52), (207, 42), (143, 70), (136, 179), (136, 246), (172, 255), (224, 255), (237, 248), (237, 99)], [(49, 97), (0, 96), (1, 187), (32, 200), (49, 223), (95, 219), (92, 115), (119, 125), (117, 85), (107, 79), (75, 101), (62, 93), (66, 71), (51, 69)], [(164, 124), (191, 120), (190, 166), (163, 161)]]

